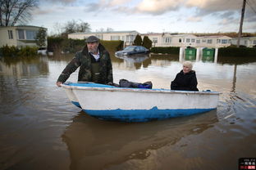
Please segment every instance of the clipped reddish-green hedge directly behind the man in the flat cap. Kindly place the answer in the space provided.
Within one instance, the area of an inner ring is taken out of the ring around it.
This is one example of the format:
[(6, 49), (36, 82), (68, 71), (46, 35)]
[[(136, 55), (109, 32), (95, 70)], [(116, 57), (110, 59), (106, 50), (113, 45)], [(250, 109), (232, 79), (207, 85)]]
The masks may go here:
[[(121, 50), (123, 47), (123, 41), (100, 41), (104, 47), (106, 47), (107, 51), (114, 52)], [(85, 47), (84, 39), (67, 39), (60, 37), (48, 37), (48, 51), (54, 52), (71, 52), (75, 53), (76, 51), (80, 51)]]

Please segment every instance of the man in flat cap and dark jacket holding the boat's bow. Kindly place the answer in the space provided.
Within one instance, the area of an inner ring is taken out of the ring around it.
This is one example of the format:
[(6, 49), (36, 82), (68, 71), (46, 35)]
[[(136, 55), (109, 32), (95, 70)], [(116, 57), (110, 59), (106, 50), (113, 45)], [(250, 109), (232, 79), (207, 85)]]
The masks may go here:
[(95, 36), (89, 36), (85, 42), (84, 49), (76, 52), (75, 57), (57, 78), (58, 87), (61, 87), (78, 67), (80, 67), (78, 81), (113, 83), (112, 61), (108, 51)]

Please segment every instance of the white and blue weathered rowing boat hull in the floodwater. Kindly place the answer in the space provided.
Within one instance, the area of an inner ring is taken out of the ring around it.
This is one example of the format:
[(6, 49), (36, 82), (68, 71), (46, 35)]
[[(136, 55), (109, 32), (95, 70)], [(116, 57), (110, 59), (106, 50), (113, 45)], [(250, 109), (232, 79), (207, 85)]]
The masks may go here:
[(75, 96), (73, 100), (77, 100), (85, 113), (98, 119), (125, 122), (169, 119), (215, 110), (219, 96), (218, 92), (118, 88), (96, 83), (71, 83), (63, 87), (71, 89), (66, 90), (68, 96)]

